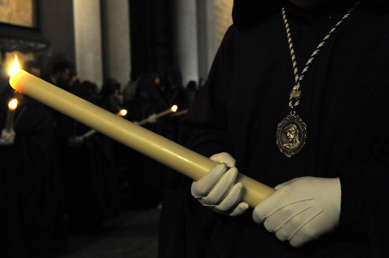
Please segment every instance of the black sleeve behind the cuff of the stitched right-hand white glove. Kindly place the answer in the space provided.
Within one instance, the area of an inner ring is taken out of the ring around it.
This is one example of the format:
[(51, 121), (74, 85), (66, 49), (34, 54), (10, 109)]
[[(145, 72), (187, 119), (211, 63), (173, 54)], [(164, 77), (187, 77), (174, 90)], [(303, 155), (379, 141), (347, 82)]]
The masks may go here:
[(342, 187), (339, 228), (346, 234), (368, 239), (377, 257), (389, 252), (388, 141), (389, 128), (366, 164), (337, 171)]

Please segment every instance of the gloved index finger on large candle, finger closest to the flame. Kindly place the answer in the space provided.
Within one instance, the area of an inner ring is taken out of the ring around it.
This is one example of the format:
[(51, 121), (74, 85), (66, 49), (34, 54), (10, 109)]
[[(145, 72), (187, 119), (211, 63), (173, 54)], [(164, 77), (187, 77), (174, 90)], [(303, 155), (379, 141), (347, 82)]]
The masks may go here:
[(226, 164), (222, 163), (216, 165), (197, 182), (193, 182), (191, 187), (191, 193), (193, 197), (200, 198), (209, 194), (209, 192), (212, 190), (212, 188), (214, 188), (216, 183), (222, 178), (226, 171)]

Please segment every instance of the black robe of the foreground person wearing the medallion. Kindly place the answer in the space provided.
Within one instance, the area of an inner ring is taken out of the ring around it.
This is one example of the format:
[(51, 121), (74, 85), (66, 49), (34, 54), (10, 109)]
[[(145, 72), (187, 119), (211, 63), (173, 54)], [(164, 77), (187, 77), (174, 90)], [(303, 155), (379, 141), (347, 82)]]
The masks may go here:
[[(295, 85), (281, 7), (302, 71), (317, 45), (356, 3), (312, 2), (325, 5), (307, 9), (298, 6), (307, 1), (234, 1), (234, 24), (181, 123), (180, 143), (206, 157), (230, 153), (240, 173), (270, 187), (305, 176), (339, 178), (338, 224), (296, 248), (258, 225), (252, 209), (228, 216), (202, 206), (191, 195), (193, 181), (172, 174), (161, 212), (160, 257), (388, 254), (389, 14), (383, 1), (357, 6), (305, 74), (296, 109), (307, 125), (300, 153), (288, 158), (276, 144), (277, 124), (291, 112), (289, 92)], [(305, 187), (312, 191), (312, 185)], [(275, 194), (268, 199), (282, 201)]]

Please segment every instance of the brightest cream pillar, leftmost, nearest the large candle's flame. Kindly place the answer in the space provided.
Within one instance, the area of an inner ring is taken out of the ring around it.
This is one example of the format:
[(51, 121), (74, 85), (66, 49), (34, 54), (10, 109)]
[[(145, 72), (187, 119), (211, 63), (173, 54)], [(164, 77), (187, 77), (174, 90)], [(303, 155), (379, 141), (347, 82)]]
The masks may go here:
[(75, 63), (81, 81), (103, 82), (100, 0), (73, 0)]

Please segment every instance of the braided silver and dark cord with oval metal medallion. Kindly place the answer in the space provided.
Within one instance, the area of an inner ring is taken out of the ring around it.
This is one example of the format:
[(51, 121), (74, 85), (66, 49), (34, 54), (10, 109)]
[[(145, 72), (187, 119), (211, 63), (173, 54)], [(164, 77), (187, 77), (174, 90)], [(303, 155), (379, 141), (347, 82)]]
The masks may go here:
[(354, 7), (352, 7), (347, 14), (345, 14), (335, 27), (332, 28), (328, 35), (323, 38), (322, 42), (316, 47), (315, 51), (312, 53), (310, 58), (305, 64), (305, 68), (299, 74), (296, 62), (296, 56), (294, 55), (294, 48), (289, 28), (289, 23), (286, 18), (285, 8), (282, 8), (282, 18), (284, 19), (286, 35), (289, 44), (289, 49), (291, 51), (291, 58), (293, 64), (294, 72), (294, 81), (295, 85), (293, 90), (289, 94), (289, 107), (292, 109), (290, 115), (287, 115), (277, 126), (277, 146), (280, 151), (284, 153), (288, 158), (300, 152), (301, 148), (305, 144), (305, 139), (307, 138), (307, 125), (301, 120), (301, 118), (296, 115), (296, 112), (293, 110), (298, 105), (300, 105), (300, 99), (302, 93), (300, 90), (301, 81), (303, 80), (305, 74), (310, 67), (310, 64), (314, 61), (315, 56), (319, 53), (322, 46), (326, 43), (326, 40), (331, 36), (333, 31), (347, 18), (350, 16), (351, 12), (354, 11), (361, 1), (357, 2)]

